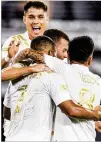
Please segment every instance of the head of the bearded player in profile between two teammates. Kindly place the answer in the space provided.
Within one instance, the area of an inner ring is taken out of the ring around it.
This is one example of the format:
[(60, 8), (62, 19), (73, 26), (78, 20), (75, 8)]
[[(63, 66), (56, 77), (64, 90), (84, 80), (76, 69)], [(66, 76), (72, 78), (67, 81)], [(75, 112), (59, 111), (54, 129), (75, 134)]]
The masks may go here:
[(61, 30), (49, 29), (44, 35), (50, 37), (56, 44), (57, 58), (63, 60), (67, 58), (67, 50), (69, 46), (69, 37)]

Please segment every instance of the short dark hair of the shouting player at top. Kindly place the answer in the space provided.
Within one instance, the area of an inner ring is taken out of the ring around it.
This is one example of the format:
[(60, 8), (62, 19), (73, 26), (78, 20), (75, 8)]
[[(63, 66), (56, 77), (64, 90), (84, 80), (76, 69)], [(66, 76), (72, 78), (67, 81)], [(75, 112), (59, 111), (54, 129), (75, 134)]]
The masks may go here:
[(45, 12), (47, 12), (47, 9), (48, 9), (47, 5), (45, 5), (41, 1), (29, 1), (24, 6), (24, 12), (27, 12), (30, 7), (34, 7), (37, 9), (43, 9)]

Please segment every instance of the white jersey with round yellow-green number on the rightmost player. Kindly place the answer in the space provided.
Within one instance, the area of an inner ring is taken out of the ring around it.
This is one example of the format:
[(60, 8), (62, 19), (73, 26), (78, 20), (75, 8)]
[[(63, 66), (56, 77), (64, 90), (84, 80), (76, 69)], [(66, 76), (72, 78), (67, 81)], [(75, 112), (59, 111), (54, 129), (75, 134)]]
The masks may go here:
[[(75, 103), (94, 109), (101, 100), (101, 79), (89, 69), (78, 64), (64, 64), (61, 60), (45, 55), (46, 64), (63, 76)], [(54, 141), (95, 141), (95, 123), (81, 119), (70, 119), (57, 108)]]

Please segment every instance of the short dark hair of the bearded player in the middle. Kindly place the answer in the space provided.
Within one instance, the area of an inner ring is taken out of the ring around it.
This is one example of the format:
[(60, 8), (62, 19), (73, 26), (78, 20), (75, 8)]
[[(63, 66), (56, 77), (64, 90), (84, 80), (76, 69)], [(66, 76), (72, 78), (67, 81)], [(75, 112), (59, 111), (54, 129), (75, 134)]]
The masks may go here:
[(46, 30), (44, 35), (50, 37), (54, 42), (58, 42), (61, 38), (69, 41), (69, 37), (63, 31), (58, 29)]

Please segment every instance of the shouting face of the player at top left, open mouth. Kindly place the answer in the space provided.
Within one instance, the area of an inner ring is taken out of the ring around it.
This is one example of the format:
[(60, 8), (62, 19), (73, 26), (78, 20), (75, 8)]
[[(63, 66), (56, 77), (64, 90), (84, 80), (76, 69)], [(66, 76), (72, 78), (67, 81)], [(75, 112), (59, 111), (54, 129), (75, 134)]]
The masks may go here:
[(23, 21), (28, 30), (29, 38), (33, 39), (34, 37), (43, 35), (47, 27), (48, 15), (43, 9), (31, 7), (25, 13)]

